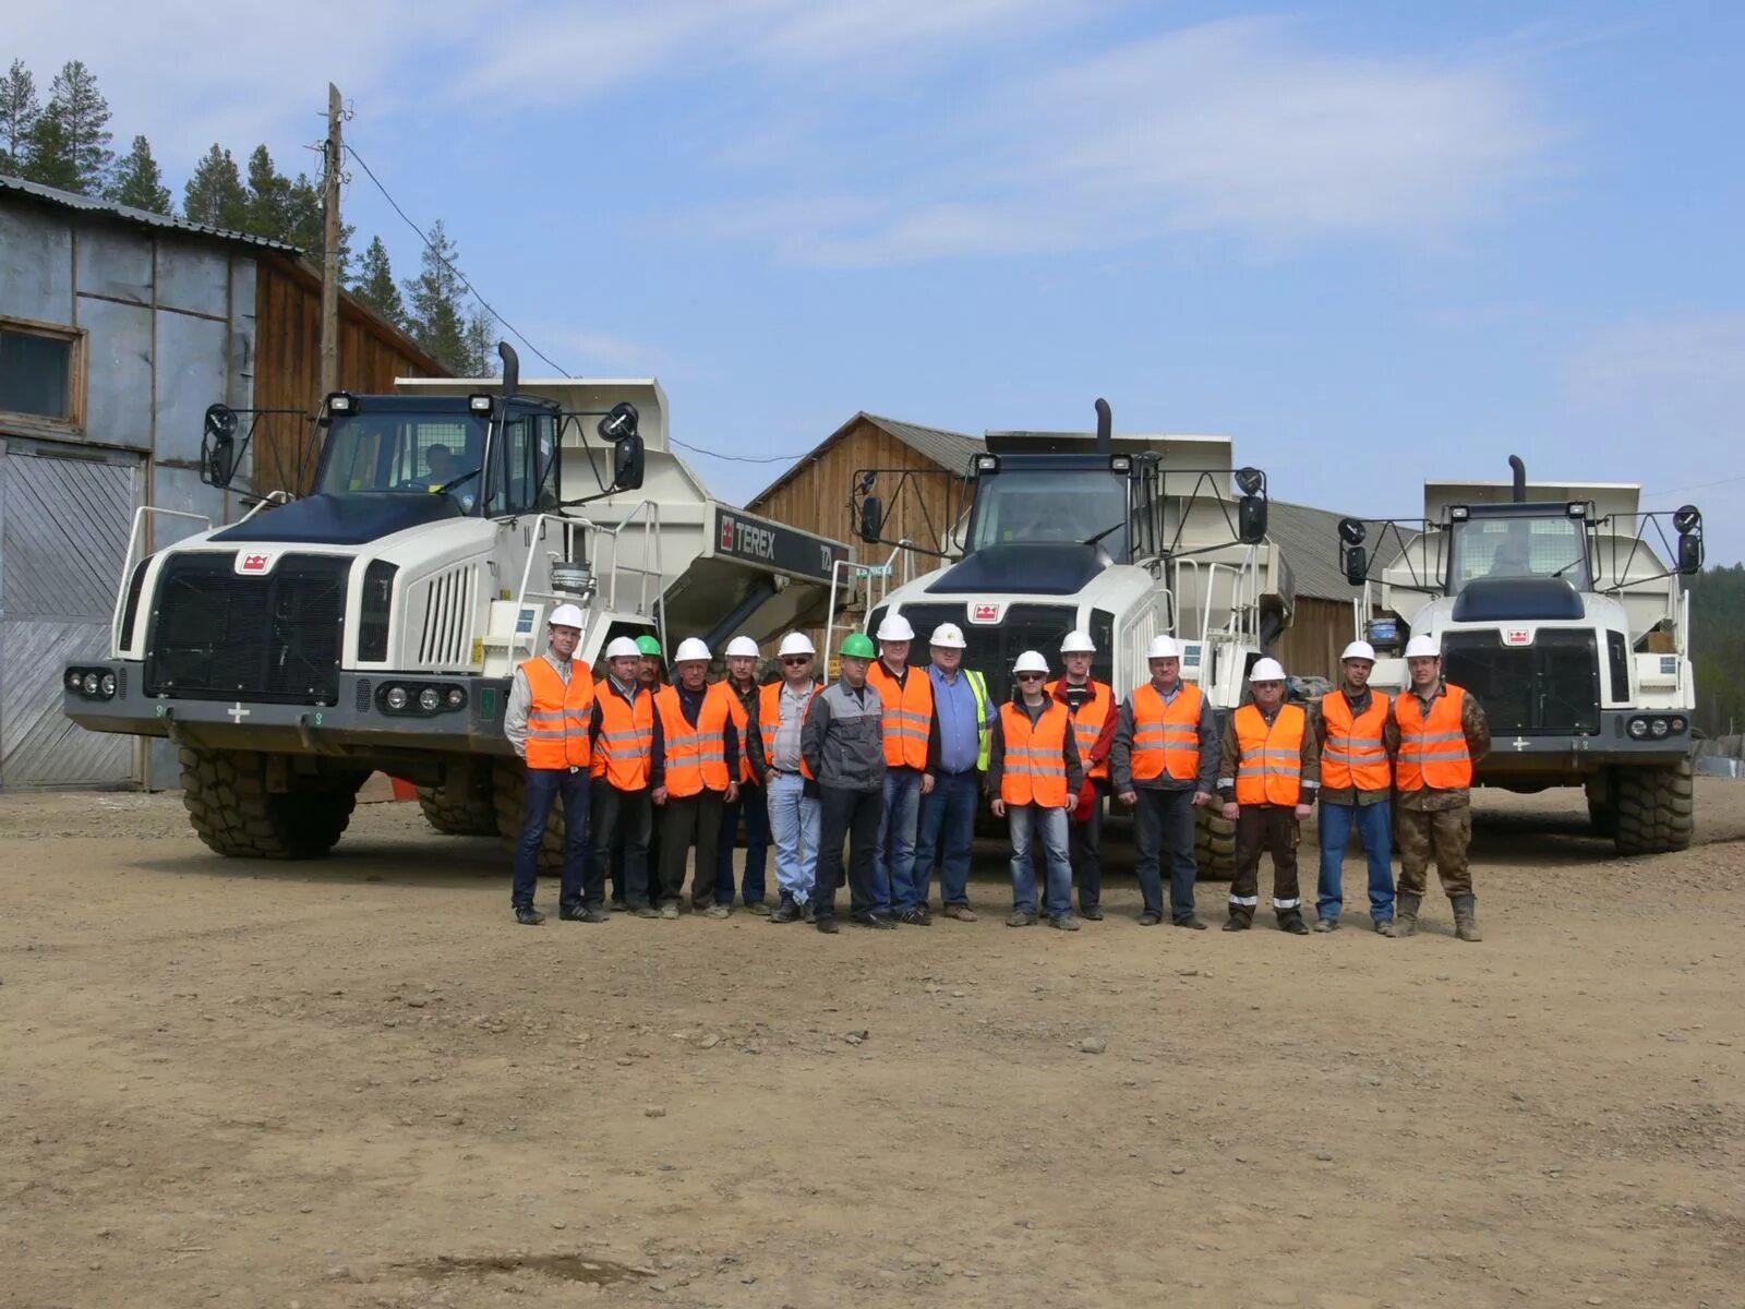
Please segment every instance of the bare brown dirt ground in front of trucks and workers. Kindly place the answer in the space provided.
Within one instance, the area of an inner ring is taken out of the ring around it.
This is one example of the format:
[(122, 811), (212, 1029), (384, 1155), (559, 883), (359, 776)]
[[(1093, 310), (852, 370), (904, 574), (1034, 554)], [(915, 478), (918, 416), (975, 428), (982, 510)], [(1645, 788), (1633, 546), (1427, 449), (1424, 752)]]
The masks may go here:
[(1124, 873), (1077, 935), (532, 930), (417, 806), (269, 866), (3, 796), (0, 1304), (1740, 1306), (1745, 785), (1698, 787), (1625, 862), (1482, 794), (1476, 946), (1361, 873), (1312, 937), (1139, 929)]

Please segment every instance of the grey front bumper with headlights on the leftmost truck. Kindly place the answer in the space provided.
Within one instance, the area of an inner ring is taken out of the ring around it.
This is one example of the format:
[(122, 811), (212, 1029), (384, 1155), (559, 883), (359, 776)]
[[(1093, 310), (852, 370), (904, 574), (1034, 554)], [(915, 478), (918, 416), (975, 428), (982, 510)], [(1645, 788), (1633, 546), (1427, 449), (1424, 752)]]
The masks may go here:
[[(148, 696), (143, 691), (143, 667), (122, 660), (92, 660), (72, 667), (94, 672), (99, 682), (105, 672), (115, 677), (115, 695), (108, 698), (73, 691), (63, 677), (63, 709), (73, 723), (89, 731), (168, 737), (178, 745), (270, 754), (368, 757), (405, 750), (513, 756), (503, 735), (503, 712), (510, 698), (506, 677), (342, 672), (335, 703), (279, 705), (258, 700), (225, 703)], [(414, 702), (415, 688), (459, 686), (466, 693), (466, 703), (435, 714), (393, 714), (386, 710), (380, 696), (380, 691), (393, 682), (414, 688)]]

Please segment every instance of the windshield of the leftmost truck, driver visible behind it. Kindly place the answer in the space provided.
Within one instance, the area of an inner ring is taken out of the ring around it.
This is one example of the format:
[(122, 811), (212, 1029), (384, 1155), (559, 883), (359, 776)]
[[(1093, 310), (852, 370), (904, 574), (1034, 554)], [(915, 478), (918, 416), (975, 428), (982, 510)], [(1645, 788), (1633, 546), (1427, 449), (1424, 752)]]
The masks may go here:
[(462, 511), (478, 501), (485, 422), (471, 414), (351, 414), (328, 429), (316, 490), (443, 494)]

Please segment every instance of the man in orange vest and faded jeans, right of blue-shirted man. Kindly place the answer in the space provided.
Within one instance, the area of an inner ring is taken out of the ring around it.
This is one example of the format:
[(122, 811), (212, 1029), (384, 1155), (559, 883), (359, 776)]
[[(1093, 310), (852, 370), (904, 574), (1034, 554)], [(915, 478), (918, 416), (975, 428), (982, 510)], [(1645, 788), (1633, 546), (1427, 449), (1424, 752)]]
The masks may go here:
[(1047, 691), (1049, 661), (1026, 649), (1012, 665), (1012, 698), (988, 730), (988, 791), (1012, 836), (1012, 913), (1007, 927), (1037, 922), (1035, 845), (1049, 859), (1049, 925), (1077, 932), (1066, 815), (1078, 803), (1084, 764), (1073, 716)]

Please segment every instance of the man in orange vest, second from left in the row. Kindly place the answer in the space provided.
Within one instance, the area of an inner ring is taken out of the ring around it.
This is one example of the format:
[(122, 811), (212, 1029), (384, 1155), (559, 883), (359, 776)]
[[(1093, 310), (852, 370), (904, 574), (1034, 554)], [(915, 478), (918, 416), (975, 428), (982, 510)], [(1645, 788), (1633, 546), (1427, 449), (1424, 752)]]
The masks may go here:
[(630, 637), (606, 648), (606, 681), (595, 686), (593, 723), (593, 838), (588, 843), (588, 885), (583, 901), (599, 909), (606, 894), (606, 867), (614, 843), (625, 853), (619, 888), (625, 908), (637, 918), (658, 918), (649, 894), (649, 763), (660, 721), (654, 695), (637, 668), (642, 651)]

